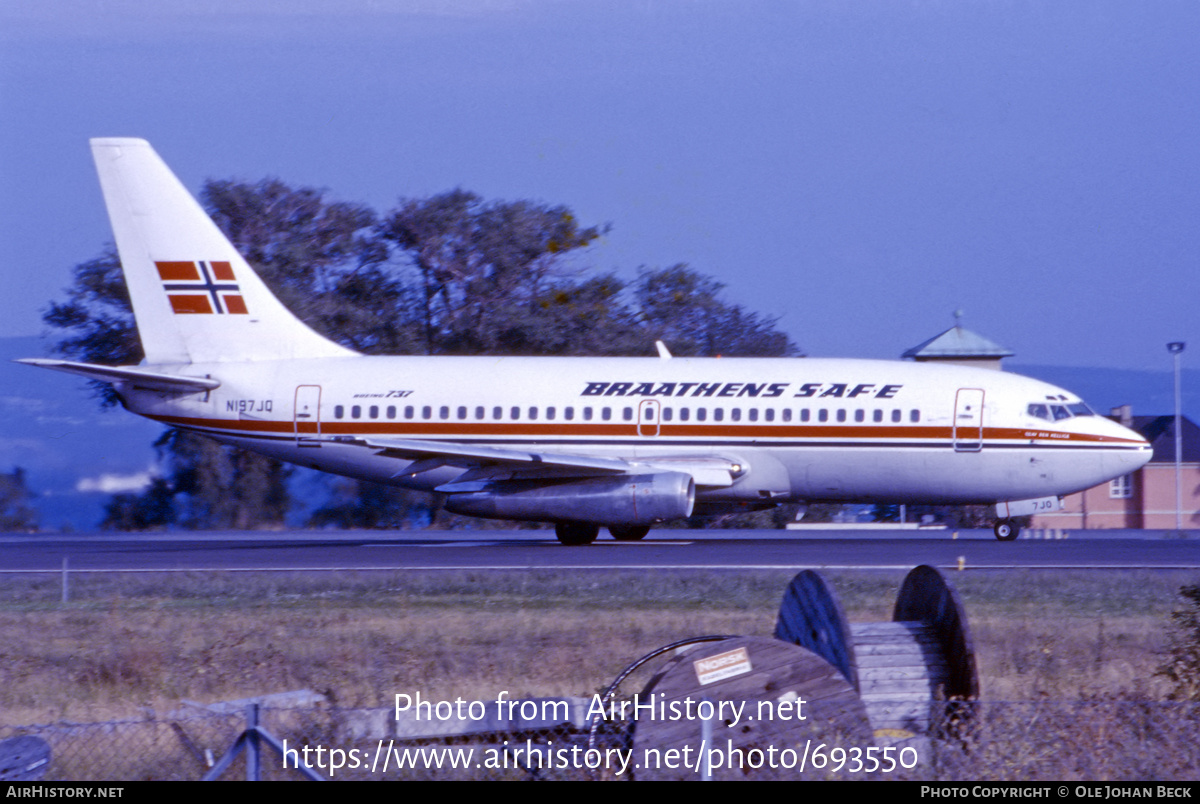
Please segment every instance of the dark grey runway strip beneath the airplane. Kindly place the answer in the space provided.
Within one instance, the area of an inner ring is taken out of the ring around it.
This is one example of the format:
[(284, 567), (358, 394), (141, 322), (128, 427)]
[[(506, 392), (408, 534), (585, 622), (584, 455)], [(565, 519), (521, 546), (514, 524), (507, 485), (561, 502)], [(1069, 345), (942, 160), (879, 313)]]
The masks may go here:
[(0, 572), (534, 569), (1200, 569), (1200, 532), (1072, 532), (997, 541), (990, 530), (656, 530), (641, 542), (602, 533), (584, 547), (551, 530), (0, 534)]

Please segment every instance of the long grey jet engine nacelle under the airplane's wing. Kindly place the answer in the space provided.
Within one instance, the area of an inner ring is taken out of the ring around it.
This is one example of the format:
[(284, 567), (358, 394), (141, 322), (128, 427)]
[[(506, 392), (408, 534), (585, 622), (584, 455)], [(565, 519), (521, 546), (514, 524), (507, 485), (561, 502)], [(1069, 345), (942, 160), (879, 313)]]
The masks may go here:
[(446, 510), (493, 520), (655, 524), (691, 516), (696, 485), (683, 472), (565, 480), (502, 480), (455, 493)]

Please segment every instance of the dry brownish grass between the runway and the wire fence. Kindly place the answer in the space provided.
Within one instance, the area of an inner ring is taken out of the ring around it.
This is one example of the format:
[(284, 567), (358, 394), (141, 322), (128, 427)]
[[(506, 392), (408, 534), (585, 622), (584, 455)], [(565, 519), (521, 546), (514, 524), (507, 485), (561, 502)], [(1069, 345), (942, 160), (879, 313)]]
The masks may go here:
[[(901, 575), (830, 575), (852, 622), (889, 619)], [(5, 725), (127, 718), (181, 700), (308, 688), (341, 706), (581, 695), (702, 634), (774, 628), (779, 572), (47, 576), (0, 590)], [(1153, 674), (1194, 574), (967, 572), (988, 701), (1159, 700)]]

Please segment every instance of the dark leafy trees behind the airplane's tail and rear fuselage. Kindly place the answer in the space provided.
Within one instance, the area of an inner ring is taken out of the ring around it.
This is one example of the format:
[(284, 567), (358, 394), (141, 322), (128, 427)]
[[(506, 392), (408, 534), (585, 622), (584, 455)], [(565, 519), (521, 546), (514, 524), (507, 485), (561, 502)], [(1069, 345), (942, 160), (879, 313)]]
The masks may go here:
[[(642, 269), (626, 286), (580, 265), (607, 230), (565, 206), (487, 202), (454, 190), (401, 199), (384, 216), (277, 179), (209, 181), (202, 200), (217, 226), (296, 316), (368, 354), (797, 354), (773, 319), (721, 298), (686, 265)], [(113, 250), (76, 268), (44, 320), (58, 350), (86, 362), (132, 365), (143, 352)], [(101, 386), (106, 403), (115, 396)], [(104, 527), (278, 527), (290, 469), (182, 431), (157, 442), (163, 476), (112, 500)], [(420, 500), (425, 502), (421, 503)], [(314, 527), (397, 527), (437, 516), (430, 498), (331, 481)], [(432, 505), (432, 506), (431, 506)]]

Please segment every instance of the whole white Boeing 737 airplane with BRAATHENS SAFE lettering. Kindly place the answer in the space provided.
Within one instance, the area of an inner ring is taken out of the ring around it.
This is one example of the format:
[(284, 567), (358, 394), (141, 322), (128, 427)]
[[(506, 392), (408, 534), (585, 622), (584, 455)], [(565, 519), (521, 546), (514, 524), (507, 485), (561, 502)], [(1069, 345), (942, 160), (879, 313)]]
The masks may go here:
[(643, 538), (790, 502), (997, 504), (1129, 474), (1150, 445), (1001, 371), (835, 359), (365, 356), (308, 329), (140, 139), (94, 139), (145, 360), (22, 362), (112, 383), (172, 427), (450, 511)]

